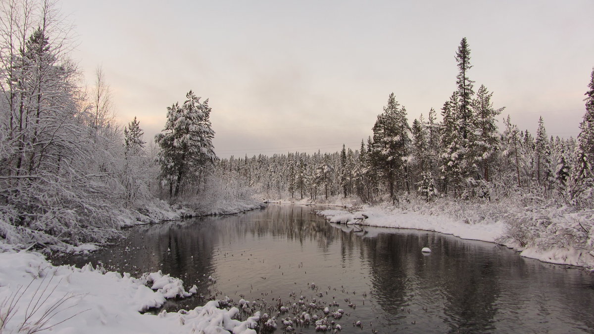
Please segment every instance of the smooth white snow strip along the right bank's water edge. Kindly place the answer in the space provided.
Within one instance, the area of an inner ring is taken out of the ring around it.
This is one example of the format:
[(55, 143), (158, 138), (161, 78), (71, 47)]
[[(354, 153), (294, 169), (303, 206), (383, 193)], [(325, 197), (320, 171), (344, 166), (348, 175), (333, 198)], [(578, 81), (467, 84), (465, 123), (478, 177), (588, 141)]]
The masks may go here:
[[(359, 211), (320, 210), (318, 214), (330, 222), (359, 224), (389, 228), (410, 228), (452, 234), (471, 240), (498, 242), (520, 251), (521, 256), (557, 264), (569, 264), (594, 268), (594, 252), (573, 247), (520, 247), (517, 243), (502, 238), (508, 228), (504, 222), (486, 220), (469, 223), (467, 220), (450, 218), (448, 215), (425, 215), (393, 207), (364, 206)], [(364, 217), (367, 216), (367, 218)], [(594, 269), (593, 269), (594, 270)]]

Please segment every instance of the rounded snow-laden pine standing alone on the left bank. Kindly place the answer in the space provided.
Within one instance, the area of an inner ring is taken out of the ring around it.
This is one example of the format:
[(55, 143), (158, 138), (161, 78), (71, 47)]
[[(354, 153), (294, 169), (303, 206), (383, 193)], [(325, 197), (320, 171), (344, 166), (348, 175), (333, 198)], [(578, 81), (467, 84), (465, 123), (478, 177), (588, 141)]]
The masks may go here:
[(175, 103), (167, 108), (165, 128), (155, 136), (161, 149), (157, 158), (161, 179), (169, 187), (169, 197), (177, 197), (187, 185), (199, 187), (206, 169), (218, 159), (208, 99), (200, 102), (191, 90), (186, 97), (182, 106)]

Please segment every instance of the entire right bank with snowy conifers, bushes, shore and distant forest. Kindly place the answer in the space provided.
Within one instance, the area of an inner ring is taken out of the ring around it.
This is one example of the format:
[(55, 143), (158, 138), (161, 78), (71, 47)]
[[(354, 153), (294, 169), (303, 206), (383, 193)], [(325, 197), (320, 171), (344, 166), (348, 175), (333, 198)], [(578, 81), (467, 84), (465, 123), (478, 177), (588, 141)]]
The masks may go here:
[(466, 38), (456, 61), (457, 90), (441, 120), (431, 109), (409, 125), (392, 93), (358, 150), (230, 157), (220, 169), (268, 201), (363, 206), (369, 219), (350, 222), (440, 231), (594, 267), (594, 71), (579, 136), (560, 138), (546, 135), (542, 117), (535, 135), (510, 116), (500, 131), (504, 108), (494, 108), (484, 85), (475, 93)]

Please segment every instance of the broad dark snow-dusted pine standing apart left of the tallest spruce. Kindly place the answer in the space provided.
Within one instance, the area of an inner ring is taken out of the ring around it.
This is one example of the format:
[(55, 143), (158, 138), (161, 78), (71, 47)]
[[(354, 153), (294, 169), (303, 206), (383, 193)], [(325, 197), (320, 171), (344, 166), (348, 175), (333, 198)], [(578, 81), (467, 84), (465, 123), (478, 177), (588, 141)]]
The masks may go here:
[(372, 130), (373, 146), (369, 153), (371, 165), (380, 171), (390, 198), (394, 200), (396, 191), (403, 188), (396, 184), (397, 181), (405, 181), (406, 190), (409, 191), (403, 158), (407, 156), (410, 144), (406, 109), (396, 101), (394, 93), (388, 97), (388, 104), (384, 106), (384, 112), (377, 116)]

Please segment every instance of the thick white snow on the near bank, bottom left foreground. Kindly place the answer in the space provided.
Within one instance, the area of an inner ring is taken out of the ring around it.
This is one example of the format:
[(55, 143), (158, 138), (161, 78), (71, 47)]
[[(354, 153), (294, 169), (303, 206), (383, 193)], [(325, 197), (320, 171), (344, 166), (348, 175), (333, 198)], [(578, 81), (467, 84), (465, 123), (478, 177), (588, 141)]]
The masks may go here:
[[(29, 301), (39, 310), (29, 317), (29, 329), (51, 327), (52, 333), (256, 333), (260, 319), (255, 313), (244, 322), (233, 319), (235, 307), (219, 308), (219, 301), (179, 312), (163, 311), (159, 315), (141, 314), (160, 307), (166, 298), (189, 295), (182, 281), (160, 272), (141, 278), (129, 274), (105, 272), (90, 265), (83, 268), (53, 266), (38, 253), (27, 251), (0, 253), (0, 308), (6, 314), (12, 307), (12, 318), (4, 324), (5, 332), (18, 332), (31, 310)], [(145, 284), (153, 282), (153, 288)], [(174, 295), (175, 292), (175, 295)], [(55, 310), (51, 311), (53, 307)], [(40, 318), (49, 310), (49, 316)], [(42, 324), (43, 321), (48, 322)], [(62, 322), (65, 320), (64, 322)]]

